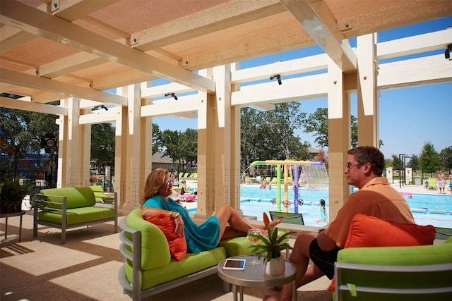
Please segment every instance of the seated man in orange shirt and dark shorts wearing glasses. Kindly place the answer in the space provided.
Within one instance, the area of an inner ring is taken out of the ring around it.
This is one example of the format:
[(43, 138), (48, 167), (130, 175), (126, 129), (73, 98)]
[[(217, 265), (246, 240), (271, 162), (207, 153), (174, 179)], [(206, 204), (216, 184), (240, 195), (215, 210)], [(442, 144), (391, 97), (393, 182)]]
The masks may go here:
[[(355, 214), (376, 216), (396, 223), (415, 223), (410, 207), (403, 196), (382, 178), (384, 156), (375, 147), (357, 147), (348, 151), (345, 176), (347, 183), (359, 190), (350, 195), (338, 216), (328, 228), (313, 235), (301, 234), (295, 240), (290, 261), (297, 266), (297, 287), (326, 275), (333, 278), (334, 262), (347, 240), (348, 230)], [(384, 235), (384, 233), (381, 233)], [(309, 259), (314, 264), (309, 265)], [(292, 300), (292, 283), (263, 300)]]

